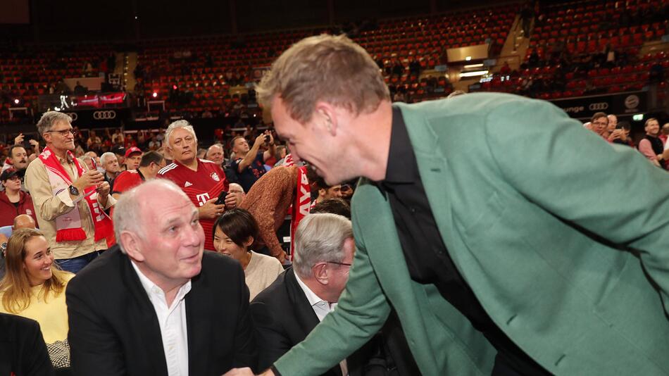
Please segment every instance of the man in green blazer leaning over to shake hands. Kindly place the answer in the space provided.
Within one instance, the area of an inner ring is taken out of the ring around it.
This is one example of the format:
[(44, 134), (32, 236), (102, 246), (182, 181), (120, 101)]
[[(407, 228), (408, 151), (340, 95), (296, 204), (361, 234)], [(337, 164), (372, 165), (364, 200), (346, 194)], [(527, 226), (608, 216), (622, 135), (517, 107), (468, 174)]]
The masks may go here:
[(294, 158), (363, 177), (339, 305), (268, 374), (324, 372), (391, 306), (423, 375), (669, 374), (669, 175), (637, 151), (520, 96), (391, 104), (345, 37), (292, 46), (258, 99)]

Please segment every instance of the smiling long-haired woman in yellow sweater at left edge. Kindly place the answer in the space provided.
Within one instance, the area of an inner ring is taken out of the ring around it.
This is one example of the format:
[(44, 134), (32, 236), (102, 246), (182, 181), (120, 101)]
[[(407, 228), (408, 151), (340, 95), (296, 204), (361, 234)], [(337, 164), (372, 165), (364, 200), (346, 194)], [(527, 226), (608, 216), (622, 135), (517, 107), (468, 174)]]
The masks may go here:
[(44, 234), (35, 229), (16, 230), (12, 234), (7, 243), (5, 268), (6, 274), (0, 281), (0, 312), (39, 322), (51, 363), (57, 368), (68, 367), (65, 287), (74, 275), (57, 268)]

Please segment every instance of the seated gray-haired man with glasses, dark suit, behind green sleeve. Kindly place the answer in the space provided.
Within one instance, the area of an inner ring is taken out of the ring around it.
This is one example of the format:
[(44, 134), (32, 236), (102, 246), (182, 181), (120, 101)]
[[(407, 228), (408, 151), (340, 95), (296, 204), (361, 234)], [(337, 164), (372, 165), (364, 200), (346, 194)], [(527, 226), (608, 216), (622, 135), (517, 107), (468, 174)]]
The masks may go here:
[[(307, 215), (297, 228), (294, 252), (292, 268), (251, 302), (261, 369), (299, 344), (337, 306), (354, 260), (351, 221), (330, 213)], [(324, 375), (418, 375), (404, 371), (404, 364), (387, 373), (399, 362), (381, 349), (375, 337)]]

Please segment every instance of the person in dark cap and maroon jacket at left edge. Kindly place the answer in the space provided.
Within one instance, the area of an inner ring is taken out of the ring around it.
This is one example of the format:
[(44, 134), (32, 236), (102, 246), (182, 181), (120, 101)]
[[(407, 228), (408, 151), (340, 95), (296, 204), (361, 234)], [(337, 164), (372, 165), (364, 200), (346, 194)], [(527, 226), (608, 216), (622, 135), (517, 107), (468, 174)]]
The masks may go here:
[(32, 206), (30, 194), (21, 190), (21, 179), (18, 171), (8, 168), (0, 174), (0, 182), (5, 188), (0, 192), (0, 226), (8, 226), (13, 223), (17, 215), (27, 214), (37, 221), (35, 207)]

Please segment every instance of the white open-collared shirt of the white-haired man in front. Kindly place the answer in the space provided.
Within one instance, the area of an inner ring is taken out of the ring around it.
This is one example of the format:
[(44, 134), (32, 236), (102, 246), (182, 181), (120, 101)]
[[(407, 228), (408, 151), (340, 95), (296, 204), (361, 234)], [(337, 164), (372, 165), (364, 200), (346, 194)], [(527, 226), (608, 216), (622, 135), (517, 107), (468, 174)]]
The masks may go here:
[(156, 310), (158, 324), (161, 327), (168, 375), (188, 376), (188, 332), (186, 301), (184, 299), (191, 289), (191, 281), (188, 280), (180, 287), (172, 301), (172, 306), (168, 307), (163, 289), (151, 282), (134, 262), (132, 262), (132, 268), (135, 268), (139, 282), (142, 282), (142, 287), (146, 290), (146, 294), (149, 295), (149, 300), (154, 305), (154, 310)]

